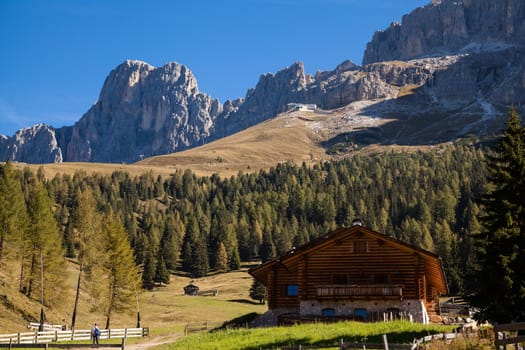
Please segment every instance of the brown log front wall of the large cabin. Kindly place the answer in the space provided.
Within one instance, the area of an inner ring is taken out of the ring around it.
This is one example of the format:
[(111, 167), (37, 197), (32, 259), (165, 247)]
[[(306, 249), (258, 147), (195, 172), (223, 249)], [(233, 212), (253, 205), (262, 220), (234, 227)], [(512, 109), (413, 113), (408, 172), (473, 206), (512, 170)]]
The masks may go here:
[[(276, 264), (269, 307), (298, 308), (301, 300), (317, 298), (318, 286), (334, 284), (334, 275), (346, 276), (346, 284), (363, 285), (374, 284), (374, 275), (386, 274), (387, 284), (403, 285), (403, 299), (417, 300), (424, 297), (420, 295), (421, 279), (427, 287), (424, 273), (424, 261), (413, 251), (366, 236), (346, 238), (299, 257), (293, 264)], [(298, 296), (287, 296), (287, 285), (297, 285)]]

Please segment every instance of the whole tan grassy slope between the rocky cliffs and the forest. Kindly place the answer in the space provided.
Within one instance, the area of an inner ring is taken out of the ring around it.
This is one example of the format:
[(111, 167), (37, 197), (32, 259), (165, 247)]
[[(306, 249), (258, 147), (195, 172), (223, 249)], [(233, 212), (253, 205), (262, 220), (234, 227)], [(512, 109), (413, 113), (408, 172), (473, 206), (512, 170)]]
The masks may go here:
[[(372, 102), (369, 102), (369, 104)], [(367, 154), (384, 150), (409, 152), (431, 146), (398, 146), (363, 143), (356, 145), (347, 140), (347, 134), (375, 130), (394, 120), (370, 117), (362, 113), (365, 102), (355, 102), (332, 111), (285, 112), (263, 123), (236, 134), (183, 152), (144, 159), (135, 164), (111, 163), (56, 163), (29, 165), (17, 163), (18, 168), (28, 166), (36, 171), (42, 168), (46, 177), (57, 173), (76, 171), (110, 174), (121, 170), (132, 176), (147, 171), (167, 176), (175, 169), (190, 169), (197, 175), (232, 176), (268, 169), (280, 162), (301, 164), (317, 163), (349, 154)], [(350, 146), (349, 146), (350, 145)], [(335, 150), (335, 151), (334, 151)]]

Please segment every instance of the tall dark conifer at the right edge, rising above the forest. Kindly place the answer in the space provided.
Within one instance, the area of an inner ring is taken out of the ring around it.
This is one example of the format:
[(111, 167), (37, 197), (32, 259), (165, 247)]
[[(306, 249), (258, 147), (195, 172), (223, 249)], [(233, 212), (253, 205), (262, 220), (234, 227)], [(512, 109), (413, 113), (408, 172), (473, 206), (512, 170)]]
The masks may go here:
[(480, 320), (525, 321), (525, 129), (516, 110), (488, 157), (492, 191), (483, 199), (483, 230), (474, 236), (478, 268), (471, 303)]

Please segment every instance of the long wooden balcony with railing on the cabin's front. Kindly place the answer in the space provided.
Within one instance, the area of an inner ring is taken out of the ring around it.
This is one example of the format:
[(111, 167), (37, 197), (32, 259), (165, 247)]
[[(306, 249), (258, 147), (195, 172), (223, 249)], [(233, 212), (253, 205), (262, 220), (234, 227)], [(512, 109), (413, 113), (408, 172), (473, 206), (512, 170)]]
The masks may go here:
[(316, 287), (318, 299), (403, 299), (401, 284), (351, 284)]

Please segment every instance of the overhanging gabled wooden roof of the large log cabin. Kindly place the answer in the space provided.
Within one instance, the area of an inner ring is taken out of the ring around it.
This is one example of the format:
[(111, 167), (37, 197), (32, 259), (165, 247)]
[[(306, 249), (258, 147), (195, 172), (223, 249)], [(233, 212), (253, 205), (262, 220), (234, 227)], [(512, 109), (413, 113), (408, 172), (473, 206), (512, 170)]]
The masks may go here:
[(396, 249), (403, 250), (411, 254), (419, 255), (425, 262), (425, 275), (427, 276), (427, 278), (430, 278), (430, 282), (438, 289), (440, 293), (448, 293), (448, 285), (445, 277), (445, 272), (443, 270), (443, 264), (441, 262), (441, 258), (438, 255), (402, 242), (396, 238), (389, 237), (379, 232), (373, 231), (361, 225), (342, 227), (331, 231), (298, 248), (291, 249), (286, 254), (280, 257), (274, 258), (265, 262), (264, 264), (250, 269), (248, 273), (252, 275), (256, 280), (267, 285), (267, 275), (277, 265), (283, 265), (284, 267), (289, 268), (295, 263), (297, 263), (302, 257), (313, 251), (333, 245), (336, 241), (357, 237), (358, 235), (364, 235), (374, 239), (379, 239), (387, 244), (390, 244)]

